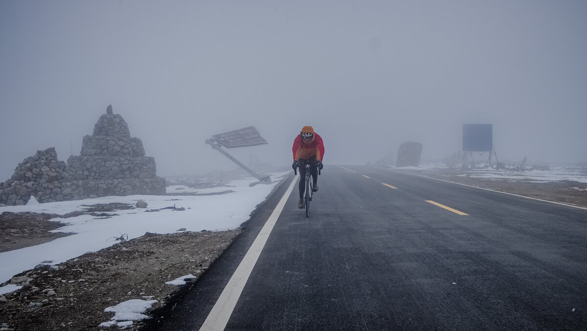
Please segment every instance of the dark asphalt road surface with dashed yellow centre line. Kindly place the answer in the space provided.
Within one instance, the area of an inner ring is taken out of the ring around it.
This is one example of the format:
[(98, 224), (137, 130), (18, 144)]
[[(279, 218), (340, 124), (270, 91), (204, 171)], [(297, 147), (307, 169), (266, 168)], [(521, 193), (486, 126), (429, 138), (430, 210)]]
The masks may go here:
[[(151, 327), (200, 329), (289, 182)], [(225, 329), (587, 329), (587, 210), (366, 166), (319, 187), (306, 218), (295, 186)]]

